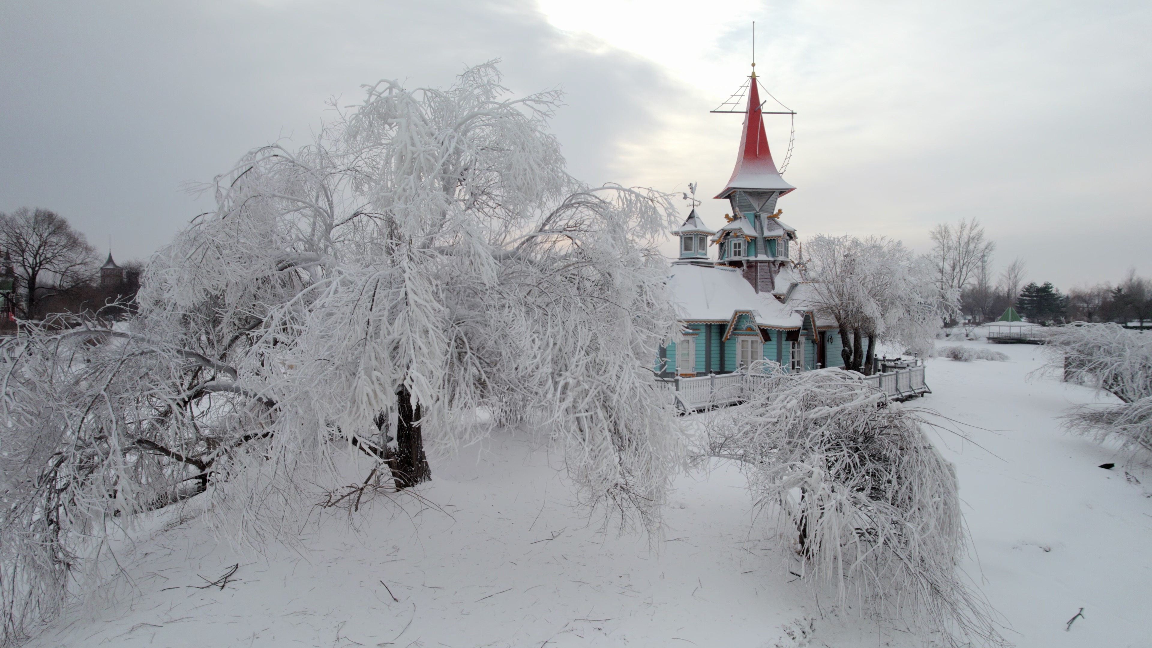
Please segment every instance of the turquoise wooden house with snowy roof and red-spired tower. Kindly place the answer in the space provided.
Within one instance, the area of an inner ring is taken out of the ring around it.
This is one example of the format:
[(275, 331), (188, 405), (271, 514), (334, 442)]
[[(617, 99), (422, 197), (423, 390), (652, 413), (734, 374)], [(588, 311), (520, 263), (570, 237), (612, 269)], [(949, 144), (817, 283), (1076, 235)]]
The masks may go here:
[(841, 366), (834, 321), (804, 307), (810, 285), (793, 261), (796, 229), (776, 201), (795, 190), (780, 175), (764, 130), (751, 75), (736, 168), (715, 197), (732, 211), (719, 231), (694, 208), (679, 238), (669, 287), (683, 329), (660, 349), (661, 376), (730, 374), (767, 359), (788, 371)]

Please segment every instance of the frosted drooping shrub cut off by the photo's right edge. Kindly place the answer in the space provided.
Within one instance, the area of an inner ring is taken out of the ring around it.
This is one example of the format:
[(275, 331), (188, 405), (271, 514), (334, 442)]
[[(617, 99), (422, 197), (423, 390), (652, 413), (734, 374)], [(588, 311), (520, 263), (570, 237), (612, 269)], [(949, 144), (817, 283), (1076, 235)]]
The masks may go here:
[(1122, 405), (1086, 405), (1064, 416), (1071, 431), (1123, 450), (1152, 451), (1152, 334), (1116, 324), (1077, 323), (1049, 329), (1048, 369), (1069, 383), (1114, 394)]

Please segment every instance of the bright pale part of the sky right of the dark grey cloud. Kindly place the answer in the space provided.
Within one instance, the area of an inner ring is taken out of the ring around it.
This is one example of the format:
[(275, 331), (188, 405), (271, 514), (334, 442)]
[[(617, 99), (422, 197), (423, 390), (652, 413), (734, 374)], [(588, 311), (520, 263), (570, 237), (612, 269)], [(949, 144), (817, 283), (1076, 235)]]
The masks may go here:
[[(1142, 113), (1152, 106), (1147, 6), (1112, 2), (924, 5), (539, 0), (548, 21), (651, 60), (683, 85), (644, 133), (616, 144), (616, 179), (702, 194), (722, 187), (737, 115), (707, 111), (743, 81), (757, 22), (757, 71), (799, 114), (782, 204), (802, 235), (887, 234), (919, 249), (935, 223), (975, 216), (998, 263), (1066, 287), (1115, 279), (1146, 254), (1152, 172)], [(787, 121), (768, 122), (778, 163)], [(1139, 169), (1139, 171), (1137, 171)], [(721, 223), (725, 204), (705, 199)], [(1052, 250), (1092, 214), (1108, 255), (1073, 269)]]

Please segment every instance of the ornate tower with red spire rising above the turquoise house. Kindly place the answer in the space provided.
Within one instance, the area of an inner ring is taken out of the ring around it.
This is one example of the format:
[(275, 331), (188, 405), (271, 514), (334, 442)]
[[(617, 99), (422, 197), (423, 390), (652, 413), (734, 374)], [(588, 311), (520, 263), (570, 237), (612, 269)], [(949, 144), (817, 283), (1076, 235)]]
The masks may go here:
[(790, 263), (789, 243), (796, 240), (796, 229), (780, 220), (782, 210), (776, 210), (776, 199), (796, 188), (785, 181), (772, 160), (758, 85), (753, 69), (746, 107), (714, 111), (744, 113), (736, 168), (723, 191), (717, 195), (717, 198), (728, 199), (732, 214), (715, 242), (720, 249), (719, 263), (743, 269), (744, 278), (757, 292), (773, 292), (776, 274)]

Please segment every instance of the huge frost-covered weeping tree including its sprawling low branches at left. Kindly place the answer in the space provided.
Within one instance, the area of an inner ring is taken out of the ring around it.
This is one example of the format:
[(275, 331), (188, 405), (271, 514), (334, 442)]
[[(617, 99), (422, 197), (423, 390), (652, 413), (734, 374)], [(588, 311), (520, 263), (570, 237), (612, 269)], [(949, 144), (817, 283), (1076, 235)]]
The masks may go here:
[(25, 439), (0, 461), (18, 485), (7, 639), (99, 563), (108, 520), (211, 497), (258, 544), (347, 479), (338, 464), (410, 488), (495, 425), (550, 442), (583, 502), (659, 523), (684, 457), (647, 369), (676, 323), (658, 249), (674, 209), (570, 178), (546, 130), (560, 95), (499, 78), (367, 88), (311, 144), (218, 176), (217, 210), (149, 264), (129, 323), (6, 342), (2, 434)]

